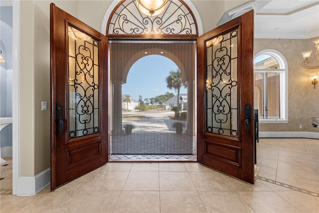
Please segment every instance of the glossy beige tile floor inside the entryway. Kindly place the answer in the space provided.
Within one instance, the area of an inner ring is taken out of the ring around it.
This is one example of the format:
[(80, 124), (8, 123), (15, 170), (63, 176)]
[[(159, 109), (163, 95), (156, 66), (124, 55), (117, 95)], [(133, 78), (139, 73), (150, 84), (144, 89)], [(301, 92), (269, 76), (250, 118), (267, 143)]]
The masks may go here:
[(246, 184), (194, 162), (110, 162), (54, 192), (1, 194), (0, 212), (319, 213), (319, 140), (261, 139), (257, 154), (259, 176), (286, 187)]

